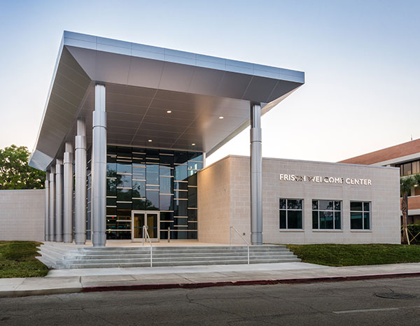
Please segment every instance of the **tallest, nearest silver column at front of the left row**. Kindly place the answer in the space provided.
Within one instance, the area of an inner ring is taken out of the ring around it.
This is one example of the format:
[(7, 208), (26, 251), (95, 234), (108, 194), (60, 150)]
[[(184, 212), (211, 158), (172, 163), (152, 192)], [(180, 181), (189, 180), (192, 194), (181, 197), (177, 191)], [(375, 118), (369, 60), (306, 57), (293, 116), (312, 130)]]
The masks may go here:
[(92, 124), (92, 243), (106, 243), (106, 112), (105, 86), (96, 85)]

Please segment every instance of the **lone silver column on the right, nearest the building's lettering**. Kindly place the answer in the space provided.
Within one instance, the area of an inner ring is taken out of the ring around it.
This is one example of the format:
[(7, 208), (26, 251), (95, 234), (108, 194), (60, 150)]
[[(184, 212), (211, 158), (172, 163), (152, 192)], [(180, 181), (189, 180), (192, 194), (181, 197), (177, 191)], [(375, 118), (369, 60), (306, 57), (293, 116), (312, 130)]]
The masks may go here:
[(261, 106), (251, 103), (251, 243), (262, 245)]

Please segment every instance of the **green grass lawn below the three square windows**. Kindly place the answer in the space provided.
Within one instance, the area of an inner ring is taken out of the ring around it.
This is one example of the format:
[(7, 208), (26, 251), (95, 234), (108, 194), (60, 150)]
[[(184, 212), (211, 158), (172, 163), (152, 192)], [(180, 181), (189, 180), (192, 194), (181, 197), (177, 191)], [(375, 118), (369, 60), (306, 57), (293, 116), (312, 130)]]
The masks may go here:
[(420, 262), (420, 246), (401, 244), (286, 245), (302, 262), (354, 266)]

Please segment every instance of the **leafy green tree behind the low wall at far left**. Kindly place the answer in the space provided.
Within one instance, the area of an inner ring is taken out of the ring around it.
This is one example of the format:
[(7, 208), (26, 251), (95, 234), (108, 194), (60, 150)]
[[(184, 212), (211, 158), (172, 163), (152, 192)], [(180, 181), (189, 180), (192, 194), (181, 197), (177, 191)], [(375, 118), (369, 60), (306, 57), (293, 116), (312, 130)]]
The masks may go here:
[(25, 146), (0, 149), (0, 190), (43, 189), (45, 172), (29, 166), (28, 158)]

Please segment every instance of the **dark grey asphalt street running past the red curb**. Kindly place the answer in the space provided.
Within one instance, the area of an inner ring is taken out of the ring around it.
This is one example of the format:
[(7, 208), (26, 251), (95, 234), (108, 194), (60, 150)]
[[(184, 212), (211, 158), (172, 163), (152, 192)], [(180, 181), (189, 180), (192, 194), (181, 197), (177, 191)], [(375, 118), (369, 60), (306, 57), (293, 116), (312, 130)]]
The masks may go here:
[[(402, 293), (412, 299), (377, 294)], [(419, 325), (420, 278), (0, 299), (0, 325)]]

